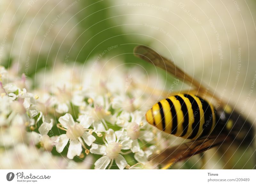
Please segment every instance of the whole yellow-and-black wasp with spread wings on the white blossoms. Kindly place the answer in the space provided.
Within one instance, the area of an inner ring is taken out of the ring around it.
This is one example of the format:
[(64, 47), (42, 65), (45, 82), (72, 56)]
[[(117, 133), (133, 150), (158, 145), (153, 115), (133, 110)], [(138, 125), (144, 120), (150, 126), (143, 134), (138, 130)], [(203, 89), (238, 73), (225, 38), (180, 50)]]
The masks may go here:
[(224, 144), (252, 146), (255, 137), (252, 123), (225, 103), (221, 96), (218, 97), (152, 48), (137, 46), (134, 55), (192, 87), (189, 91), (172, 93), (146, 113), (147, 122), (157, 129), (190, 139), (151, 155), (149, 160), (167, 169), (179, 156), (182, 156), (180, 160), (187, 159)]

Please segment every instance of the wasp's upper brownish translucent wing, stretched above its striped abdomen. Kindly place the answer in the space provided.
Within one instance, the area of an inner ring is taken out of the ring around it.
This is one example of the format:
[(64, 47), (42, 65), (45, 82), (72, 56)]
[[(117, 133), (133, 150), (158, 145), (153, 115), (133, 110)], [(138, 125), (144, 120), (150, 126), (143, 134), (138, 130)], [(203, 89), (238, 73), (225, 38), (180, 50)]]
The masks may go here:
[(219, 100), (219, 98), (215, 97), (214, 93), (212, 93), (209, 88), (204, 87), (201, 83), (199, 83), (194, 78), (186, 74), (183, 70), (178, 68), (174, 62), (159, 55), (151, 48), (147, 46), (137, 46), (134, 48), (133, 53), (135, 56), (138, 56), (139, 58), (148, 61), (149, 63), (153, 63), (155, 66), (158, 66), (163, 70), (168, 71), (170, 74), (176, 76), (180, 80), (184, 80), (189, 85), (194, 86), (194, 88), (196, 88), (199, 93), (207, 92), (207, 95), (213, 97), (215, 100)]

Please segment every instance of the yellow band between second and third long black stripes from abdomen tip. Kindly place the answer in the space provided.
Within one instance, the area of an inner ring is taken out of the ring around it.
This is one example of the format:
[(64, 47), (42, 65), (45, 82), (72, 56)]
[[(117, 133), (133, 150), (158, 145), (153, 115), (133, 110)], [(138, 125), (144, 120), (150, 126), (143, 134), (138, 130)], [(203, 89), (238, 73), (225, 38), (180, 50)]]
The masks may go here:
[(181, 110), (180, 101), (176, 100), (176, 98), (174, 96), (169, 97), (169, 99), (172, 101), (173, 106), (176, 110), (176, 115), (177, 115), (177, 132), (174, 135), (175, 136), (180, 136), (183, 132), (182, 124), (184, 122), (184, 115), (183, 115), (183, 112)]

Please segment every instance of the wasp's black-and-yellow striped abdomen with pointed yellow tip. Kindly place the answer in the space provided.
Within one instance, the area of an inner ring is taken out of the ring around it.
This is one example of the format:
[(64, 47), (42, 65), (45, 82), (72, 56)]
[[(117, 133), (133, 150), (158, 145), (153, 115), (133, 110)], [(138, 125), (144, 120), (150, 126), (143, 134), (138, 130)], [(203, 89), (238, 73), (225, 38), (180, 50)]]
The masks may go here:
[(159, 101), (148, 110), (146, 119), (166, 133), (189, 139), (209, 135), (216, 124), (212, 104), (193, 94)]

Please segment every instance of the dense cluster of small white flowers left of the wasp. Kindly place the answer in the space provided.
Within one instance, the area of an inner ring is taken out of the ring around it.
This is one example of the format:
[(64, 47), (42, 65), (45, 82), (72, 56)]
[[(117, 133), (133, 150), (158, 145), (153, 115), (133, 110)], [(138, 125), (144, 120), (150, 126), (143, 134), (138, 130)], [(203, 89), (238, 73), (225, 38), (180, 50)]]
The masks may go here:
[[(141, 70), (116, 66), (57, 66), (39, 72), (33, 90), (29, 78), (1, 67), (0, 153), (17, 160), (33, 150), (27, 158), (38, 152), (40, 161), (55, 161), (52, 166), (42, 163), (44, 168), (155, 168), (147, 151), (163, 136), (144, 115), (160, 96), (150, 89), (161, 82), (152, 78), (147, 85)], [(5, 150), (23, 154), (9, 156)], [(22, 165), (27, 164), (16, 167)]]

